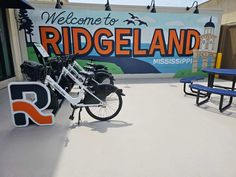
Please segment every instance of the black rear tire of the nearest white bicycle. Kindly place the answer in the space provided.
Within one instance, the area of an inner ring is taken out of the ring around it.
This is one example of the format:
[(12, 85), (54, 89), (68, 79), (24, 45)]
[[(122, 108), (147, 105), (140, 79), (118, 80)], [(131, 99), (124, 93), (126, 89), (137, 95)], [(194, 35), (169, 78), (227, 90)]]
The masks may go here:
[[(101, 109), (102, 106), (100, 107), (85, 107), (87, 113), (94, 119), (96, 120), (99, 120), (99, 121), (107, 121), (107, 120), (110, 120), (112, 118), (114, 118), (115, 116), (117, 116), (122, 108), (122, 105), (123, 105), (123, 100), (122, 100), (122, 96), (120, 94), (118, 94), (117, 92), (112, 92), (109, 96), (111, 96), (112, 94), (115, 94), (118, 98), (118, 107), (117, 109), (114, 111), (114, 113), (112, 113), (111, 115), (109, 116), (106, 116), (106, 117), (102, 117), (101, 115), (98, 115), (96, 113), (94, 113), (93, 109), (94, 108), (97, 108), (97, 109)], [(106, 100), (105, 102), (107, 103), (107, 98), (109, 98), (109, 96), (106, 97)], [(107, 108), (108, 106), (106, 106)], [(105, 109), (106, 109), (105, 108)], [(104, 111), (104, 110), (103, 110)]]

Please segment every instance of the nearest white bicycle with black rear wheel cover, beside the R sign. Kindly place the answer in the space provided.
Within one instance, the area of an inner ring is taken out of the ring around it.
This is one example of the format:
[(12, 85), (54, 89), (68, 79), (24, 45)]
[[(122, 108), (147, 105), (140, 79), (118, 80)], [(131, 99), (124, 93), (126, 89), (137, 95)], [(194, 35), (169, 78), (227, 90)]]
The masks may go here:
[[(42, 70), (42, 65), (38, 65), (39, 66), (34, 67), (33, 69), (37, 70), (37, 68), (40, 68), (40, 70)], [(61, 75), (68, 76), (80, 87), (77, 97), (72, 97), (50, 76), (52, 72), (53, 70), (51, 67), (43, 66), (43, 71), (39, 72), (39, 79), (52, 88), (54, 92), (57, 91), (71, 103), (73, 110), (69, 117), (70, 119), (74, 119), (75, 110), (78, 108), (80, 108), (78, 124), (81, 120), (82, 108), (85, 108), (91, 117), (99, 121), (110, 120), (119, 114), (123, 105), (122, 96), (125, 96), (122, 89), (111, 84), (86, 85), (85, 83), (88, 83), (88, 80), (94, 77), (93, 73), (79, 72), (79, 74), (84, 75), (84, 80), (79, 80), (63, 66)]]

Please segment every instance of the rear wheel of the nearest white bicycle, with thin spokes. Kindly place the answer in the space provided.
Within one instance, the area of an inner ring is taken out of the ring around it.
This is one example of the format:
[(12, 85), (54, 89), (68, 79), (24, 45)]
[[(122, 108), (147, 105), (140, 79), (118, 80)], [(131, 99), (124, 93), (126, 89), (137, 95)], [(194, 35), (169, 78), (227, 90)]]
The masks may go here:
[(105, 100), (104, 106), (85, 107), (87, 113), (96, 120), (107, 121), (114, 118), (121, 110), (123, 101), (120, 94), (112, 92)]

